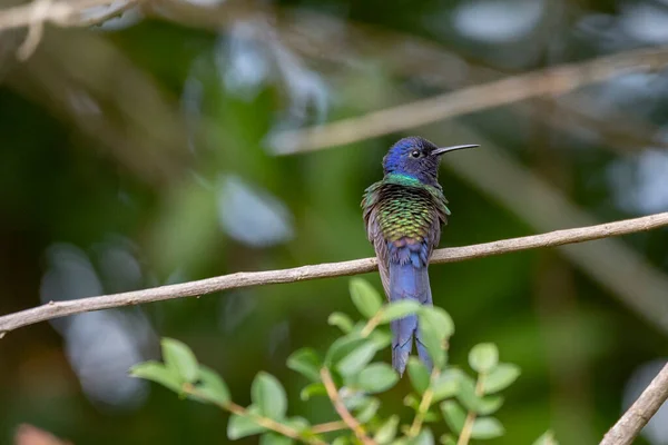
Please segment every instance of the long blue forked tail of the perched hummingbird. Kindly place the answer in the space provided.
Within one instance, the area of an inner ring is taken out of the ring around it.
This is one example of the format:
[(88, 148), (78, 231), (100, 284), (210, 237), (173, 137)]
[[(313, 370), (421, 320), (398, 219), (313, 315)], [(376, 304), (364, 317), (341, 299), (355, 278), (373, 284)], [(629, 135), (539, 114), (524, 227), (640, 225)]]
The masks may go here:
[[(431, 289), (429, 286), (429, 273), (421, 261), (407, 261), (405, 264), (390, 264), (390, 301), (413, 299), (421, 305), (432, 305)], [(392, 322), (392, 366), (400, 375), (403, 375), (409, 356), (413, 349), (413, 338), (418, 347), (418, 355), (431, 372), (432, 359), (422, 343), (422, 336), (416, 315)]]

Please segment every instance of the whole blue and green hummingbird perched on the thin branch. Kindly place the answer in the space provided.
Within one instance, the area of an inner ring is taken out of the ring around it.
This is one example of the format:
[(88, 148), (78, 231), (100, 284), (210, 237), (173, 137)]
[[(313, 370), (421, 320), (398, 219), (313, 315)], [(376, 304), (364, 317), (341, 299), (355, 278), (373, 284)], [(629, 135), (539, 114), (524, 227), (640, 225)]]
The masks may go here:
[[(412, 299), (432, 306), (429, 260), (441, 240), (450, 209), (439, 184), (441, 156), (464, 145), (438, 147), (421, 137), (403, 138), (383, 158), (384, 177), (364, 191), (366, 236), (375, 250), (390, 303)], [(428, 369), (432, 360), (422, 342), (416, 315), (391, 323), (392, 366), (403, 375), (415, 343)]]

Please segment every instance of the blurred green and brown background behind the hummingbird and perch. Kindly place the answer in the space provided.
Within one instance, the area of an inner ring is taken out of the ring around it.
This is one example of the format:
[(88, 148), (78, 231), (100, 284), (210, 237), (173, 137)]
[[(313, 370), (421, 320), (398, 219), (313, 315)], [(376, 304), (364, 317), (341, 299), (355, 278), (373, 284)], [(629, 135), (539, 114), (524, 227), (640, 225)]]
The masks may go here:
[[(482, 145), (443, 162), (453, 211), (443, 246), (668, 209), (660, 70), (323, 150), (294, 152), (278, 137), (668, 44), (666, 0), (147, 0), (92, 29), (49, 26), (19, 61), (24, 34), (0, 31), (0, 314), (371, 256), (361, 194), (409, 134)], [(666, 246), (662, 229), (432, 267), (434, 300), (456, 324), (452, 360), (491, 340), (523, 370), (494, 444), (531, 443), (548, 428), (562, 444), (598, 443), (668, 355)], [(377, 274), (366, 278), (380, 289)], [(0, 443), (22, 423), (77, 445), (226, 443), (217, 409), (127, 377), (158, 356), (160, 336), (191, 346), (242, 404), (265, 369), (286, 383), (291, 413), (330, 419), (327, 400), (304, 407), (304, 380), (284, 363), (335, 337), (330, 313), (355, 315), (347, 281), (12, 332), (0, 340)], [(396, 398), (384, 409), (405, 409)], [(638, 443), (668, 444), (666, 409)]]

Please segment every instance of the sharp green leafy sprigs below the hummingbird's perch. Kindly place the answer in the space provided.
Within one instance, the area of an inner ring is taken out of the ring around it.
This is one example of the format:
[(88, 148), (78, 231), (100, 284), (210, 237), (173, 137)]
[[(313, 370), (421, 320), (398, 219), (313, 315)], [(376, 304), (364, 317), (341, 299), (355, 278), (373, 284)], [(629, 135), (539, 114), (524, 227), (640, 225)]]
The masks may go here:
[[(520, 369), (499, 363), (494, 344), (483, 343), (471, 349), (469, 365), (475, 372), (472, 377), (448, 364), (454, 324), (445, 310), (412, 301), (383, 305), (375, 289), (360, 278), (351, 280), (350, 289), (365, 319), (355, 324), (345, 314), (332, 314), (328, 322), (341, 329), (342, 336), (332, 343), (324, 358), (313, 348), (302, 348), (287, 359), (291, 369), (310, 380), (302, 390), (302, 399), (330, 397), (340, 421), (312, 425), (304, 418), (288, 417), (283, 385), (264, 372), (256, 375), (250, 386), (250, 406), (238, 406), (230, 400), (223, 378), (198, 364), (186, 345), (170, 338), (163, 340), (165, 363), (146, 362), (132, 367), (130, 374), (232, 412), (227, 425), (230, 439), (261, 435), (261, 444), (294, 441), (351, 444), (363, 437), (365, 443), (428, 445), (434, 443), (428, 426), (432, 423), (444, 423), (450, 429), (440, 437), (443, 444), (461, 445), (504, 434), (501, 422), (492, 417), (503, 405), (503, 397), (497, 393), (508, 388), (519, 377)], [(381, 399), (374, 396), (391, 390), (400, 377), (390, 365), (374, 358), (391, 343), (384, 325), (409, 314), (420, 317), (424, 343), (435, 367), (430, 373), (416, 357), (409, 360), (407, 378), (413, 390), (405, 395), (404, 404), (414, 414), (411, 422), (402, 424), (397, 415), (383, 416)], [(537, 443), (556, 444), (549, 433)]]

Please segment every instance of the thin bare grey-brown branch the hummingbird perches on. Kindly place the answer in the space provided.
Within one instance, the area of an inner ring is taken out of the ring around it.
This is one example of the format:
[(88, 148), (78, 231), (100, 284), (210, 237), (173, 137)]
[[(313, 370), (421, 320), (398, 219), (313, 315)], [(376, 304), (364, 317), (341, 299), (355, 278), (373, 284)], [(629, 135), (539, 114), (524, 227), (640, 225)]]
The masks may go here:
[[(434, 251), (431, 264), (455, 263), (539, 247), (562, 246), (566, 244), (582, 243), (611, 236), (651, 230), (665, 226), (668, 226), (668, 212), (591, 227), (556, 230), (548, 234), (522, 238), (511, 238), (473, 246), (439, 249)], [(42, 306), (0, 317), (0, 333), (4, 334), (39, 322), (91, 310), (109, 309), (112, 307), (138, 305), (180, 297), (200, 296), (240, 287), (365, 274), (375, 270), (376, 267), (375, 258), (363, 258), (282, 270), (242, 271), (197, 281), (160, 286), (122, 294), (104, 295), (67, 301), (50, 301)], [(648, 318), (651, 318), (652, 315), (665, 318), (665, 314), (644, 315)]]

